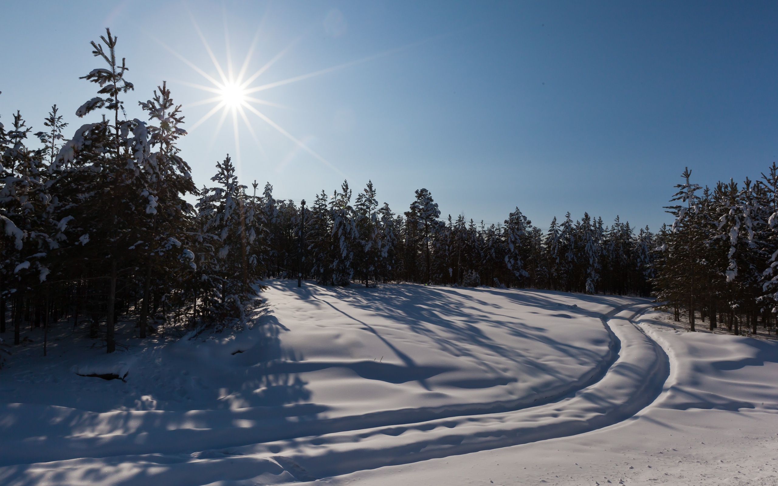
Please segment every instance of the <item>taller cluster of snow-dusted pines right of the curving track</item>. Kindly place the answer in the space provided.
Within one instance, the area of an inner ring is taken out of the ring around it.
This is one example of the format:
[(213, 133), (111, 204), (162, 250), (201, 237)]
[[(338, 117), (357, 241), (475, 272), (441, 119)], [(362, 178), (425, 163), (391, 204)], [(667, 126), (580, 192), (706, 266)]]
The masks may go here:
[(778, 166), (759, 180), (713, 188), (691, 175), (687, 168), (667, 207), (674, 222), (657, 233), (657, 300), (675, 320), (685, 314), (691, 330), (698, 316), (710, 330), (769, 330), (778, 312)]

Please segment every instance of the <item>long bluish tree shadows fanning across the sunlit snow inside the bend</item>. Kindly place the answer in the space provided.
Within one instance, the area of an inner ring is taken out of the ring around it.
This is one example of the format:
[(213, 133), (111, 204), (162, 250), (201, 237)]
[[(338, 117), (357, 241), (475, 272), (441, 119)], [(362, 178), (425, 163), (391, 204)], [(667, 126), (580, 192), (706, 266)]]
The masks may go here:
[[(285, 282), (278, 281), (276, 283), (283, 285)], [(559, 302), (561, 300), (559, 297), (563, 297), (563, 295), (555, 292), (496, 288), (469, 288), (468, 291), (462, 292), (461, 289), (457, 288), (414, 284), (381, 285), (379, 288), (323, 288), (317, 285), (306, 285), (303, 288), (289, 288), (288, 290), (293, 290), (300, 295), (301, 299), (314, 301), (314, 304), (321, 307), (335, 309), (338, 313), (362, 324), (366, 330), (370, 330), (384, 344), (387, 344), (387, 347), (391, 348), (394, 354), (408, 367), (418, 365), (410, 356), (392, 344), (390, 339), (381, 334), (380, 323), (370, 325), (370, 323), (352, 316), (345, 309), (340, 308), (337, 302), (328, 302), (328, 295), (346, 302), (350, 306), (401, 323), (415, 334), (426, 337), (435, 343), (442, 351), (457, 357), (470, 358), (472, 362), (492, 375), (500, 376), (503, 375), (503, 372), (495, 369), (489, 362), (485, 362), (482, 358), (484, 354), (498, 355), (517, 364), (545, 372), (548, 376), (564, 377), (555, 369), (554, 365), (538, 362), (506, 344), (495, 341), (484, 332), (485, 326), (499, 328), (514, 336), (538, 341), (573, 358), (579, 364), (590, 364), (603, 358), (597, 351), (585, 344), (558, 341), (548, 336), (548, 330), (545, 327), (527, 323), (520, 317), (510, 315), (510, 309), (506, 309), (505, 306), (485, 299), (489, 295), (499, 295), (517, 305), (533, 306), (549, 311), (564, 310), (564, 314), (548, 316), (556, 317), (560, 321), (568, 318), (569, 313), (593, 318), (602, 317), (601, 313), (562, 305)], [(484, 298), (481, 298), (479, 294), (484, 295)], [(605, 296), (578, 294), (575, 296), (576, 299), (587, 302), (612, 305), (612, 298)], [(630, 304), (647, 302), (646, 299), (631, 297), (622, 297), (621, 299)], [(452, 336), (455, 338), (452, 339)], [(420, 380), (420, 383), (429, 390), (429, 386), (423, 380)]]

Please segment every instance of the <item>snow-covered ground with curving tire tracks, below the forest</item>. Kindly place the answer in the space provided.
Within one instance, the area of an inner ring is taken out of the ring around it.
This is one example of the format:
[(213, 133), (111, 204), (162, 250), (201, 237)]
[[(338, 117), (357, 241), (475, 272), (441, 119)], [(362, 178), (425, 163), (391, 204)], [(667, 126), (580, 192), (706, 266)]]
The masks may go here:
[(26, 330), (0, 484), (778, 484), (776, 341), (633, 297), (269, 285), (242, 330), (114, 355)]

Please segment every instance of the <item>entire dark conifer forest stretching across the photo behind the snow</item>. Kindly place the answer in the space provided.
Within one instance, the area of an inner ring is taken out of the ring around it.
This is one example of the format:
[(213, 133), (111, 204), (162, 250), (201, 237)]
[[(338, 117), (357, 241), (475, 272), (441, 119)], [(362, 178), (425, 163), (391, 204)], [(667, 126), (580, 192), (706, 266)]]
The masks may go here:
[(40, 131), (19, 112), (0, 124), (0, 333), (14, 344), (22, 327), (71, 326), (104, 337), (110, 353), (121, 316), (138, 337), (223, 325), (263, 278), (654, 296), (692, 329), (696, 319), (734, 334), (775, 322), (775, 164), (713, 188), (686, 170), (667, 208), (675, 222), (656, 233), (587, 213), (535, 226), (531, 208), (485, 226), (443, 216), (424, 188), (408, 208), (381, 205), (373, 182), (298, 204), (269, 182), (238, 180), (229, 155), (196, 187), (166, 83), (140, 96), (146, 119), (129, 120), (138, 95), (117, 39), (108, 30), (92, 46), (96, 68), (82, 79), (96, 93), (76, 111), (79, 127), (57, 105)]

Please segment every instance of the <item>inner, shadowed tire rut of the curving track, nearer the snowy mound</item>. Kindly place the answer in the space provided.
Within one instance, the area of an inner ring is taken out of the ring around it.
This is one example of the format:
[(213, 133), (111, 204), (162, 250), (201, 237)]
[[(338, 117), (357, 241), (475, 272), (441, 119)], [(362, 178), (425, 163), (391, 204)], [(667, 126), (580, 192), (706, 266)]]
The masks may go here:
[[(576, 391), (598, 383), (619, 358), (620, 341), (608, 327), (608, 320), (615, 314), (636, 306), (634, 303), (617, 306), (606, 314), (598, 314), (574, 306), (566, 306), (566, 311), (580, 313), (583, 316), (599, 316), (608, 333), (608, 354), (598, 365), (588, 370), (578, 379), (546, 390), (540, 397), (522, 397), (516, 400), (500, 400), (488, 403), (447, 404), (438, 407), (415, 407), (376, 411), (367, 414), (347, 415), (335, 418), (316, 418), (315, 414), (326, 411), (326, 407), (317, 404), (303, 404), (289, 407), (253, 407), (244, 411), (207, 410), (207, 411), (114, 411), (86, 412), (72, 410), (73, 414), (64, 414), (64, 407), (38, 406), (37, 420), (42, 423), (82, 423), (110, 421), (115, 425), (122, 422), (145, 423), (131, 433), (66, 434), (47, 430), (45, 448), (40, 448), (37, 438), (25, 437), (21, 440), (3, 444), (0, 464), (12, 465), (55, 460), (70, 460), (80, 457), (110, 457), (143, 455), (149, 453), (174, 454), (186, 451), (202, 451), (205, 448), (224, 449), (229, 447), (253, 445), (258, 442), (279, 442), (283, 440), (329, 435), (338, 432), (362, 431), (372, 428), (400, 430), (402, 425), (428, 423), (435, 420), (474, 415), (515, 412), (528, 407), (538, 407), (554, 403), (568, 397)], [(361, 321), (359, 321), (361, 323)], [(363, 323), (364, 324), (364, 323)], [(317, 362), (294, 362), (297, 367), (315, 368)], [(356, 365), (375, 365), (373, 362), (350, 362)], [(331, 365), (331, 363), (330, 363)], [(386, 366), (386, 365), (385, 365)], [(27, 405), (28, 409), (30, 407)], [(296, 419), (296, 420), (295, 420)], [(284, 421), (286, 420), (286, 421)], [(251, 421), (250, 427), (236, 427), (235, 421)], [(279, 425), (279, 422), (282, 425)], [(186, 426), (182, 426), (185, 424)]]

